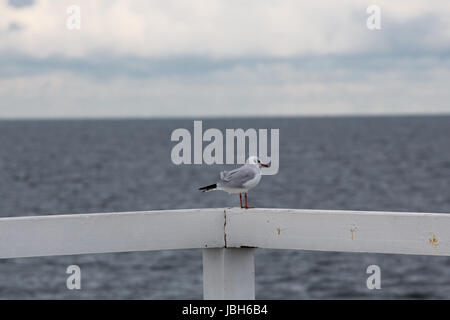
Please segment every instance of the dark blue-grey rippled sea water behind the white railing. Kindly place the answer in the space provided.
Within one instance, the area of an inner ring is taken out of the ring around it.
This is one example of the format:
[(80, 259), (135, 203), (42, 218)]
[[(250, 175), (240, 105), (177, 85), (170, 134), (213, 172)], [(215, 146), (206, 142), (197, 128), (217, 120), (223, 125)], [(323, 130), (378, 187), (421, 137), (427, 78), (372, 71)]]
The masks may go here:
[[(0, 216), (239, 205), (198, 192), (235, 166), (171, 162), (185, 120), (0, 121)], [(257, 207), (450, 213), (450, 117), (209, 119), (279, 128), (280, 170)], [(450, 230), (449, 230), (450, 232)], [(450, 257), (256, 250), (259, 299), (450, 298)], [(82, 290), (66, 288), (70, 264)], [(366, 287), (381, 268), (381, 290)], [(0, 260), (1, 299), (201, 299), (201, 250)]]

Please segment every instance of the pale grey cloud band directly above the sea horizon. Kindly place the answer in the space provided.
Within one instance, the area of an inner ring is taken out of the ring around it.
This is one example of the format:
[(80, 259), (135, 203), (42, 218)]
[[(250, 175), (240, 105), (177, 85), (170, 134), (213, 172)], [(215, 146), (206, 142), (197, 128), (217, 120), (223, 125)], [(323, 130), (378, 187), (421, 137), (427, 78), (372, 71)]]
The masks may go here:
[(384, 61), (382, 71), (339, 61), (320, 70), (312, 62), (305, 69), (274, 62), (197, 74), (116, 74), (102, 81), (54, 70), (0, 78), (0, 110), (10, 118), (448, 112), (449, 62), (440, 68), (431, 58), (412, 61), (417, 68), (407, 61)]

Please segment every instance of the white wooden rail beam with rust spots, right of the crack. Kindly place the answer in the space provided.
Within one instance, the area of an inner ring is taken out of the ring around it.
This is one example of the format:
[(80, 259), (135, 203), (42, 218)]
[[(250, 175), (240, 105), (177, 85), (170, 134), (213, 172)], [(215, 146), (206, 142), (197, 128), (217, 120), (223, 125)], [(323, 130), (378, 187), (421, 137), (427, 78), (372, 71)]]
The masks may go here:
[(450, 214), (228, 209), (227, 247), (450, 255)]

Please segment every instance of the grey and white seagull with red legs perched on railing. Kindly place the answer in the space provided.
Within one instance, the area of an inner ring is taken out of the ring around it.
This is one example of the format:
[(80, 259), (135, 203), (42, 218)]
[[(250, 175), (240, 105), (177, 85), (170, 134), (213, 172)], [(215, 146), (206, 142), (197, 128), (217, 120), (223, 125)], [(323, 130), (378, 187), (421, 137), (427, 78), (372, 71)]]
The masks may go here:
[[(258, 157), (251, 156), (242, 167), (232, 171), (222, 171), (219, 182), (199, 188), (198, 190), (203, 192), (222, 190), (230, 194), (239, 193), (241, 209), (253, 208), (247, 205), (247, 192), (256, 187), (261, 180), (261, 167), (268, 167), (268, 165), (261, 163)], [(244, 206), (242, 205), (242, 193), (245, 195)]]

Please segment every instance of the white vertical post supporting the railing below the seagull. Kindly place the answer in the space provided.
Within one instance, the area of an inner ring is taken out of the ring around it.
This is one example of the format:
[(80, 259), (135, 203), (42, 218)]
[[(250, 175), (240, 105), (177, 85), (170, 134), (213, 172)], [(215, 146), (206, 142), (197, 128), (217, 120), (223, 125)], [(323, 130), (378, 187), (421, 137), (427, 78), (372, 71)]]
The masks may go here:
[(254, 249), (203, 249), (203, 298), (254, 300)]

